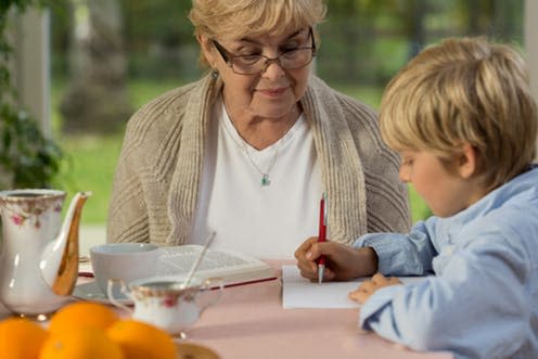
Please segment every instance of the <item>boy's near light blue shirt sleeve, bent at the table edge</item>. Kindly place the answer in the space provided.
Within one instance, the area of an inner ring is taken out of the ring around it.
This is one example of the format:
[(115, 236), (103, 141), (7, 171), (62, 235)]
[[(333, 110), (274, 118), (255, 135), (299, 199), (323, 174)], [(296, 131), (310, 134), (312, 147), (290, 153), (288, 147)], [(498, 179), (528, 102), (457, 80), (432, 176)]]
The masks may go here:
[(511, 357), (528, 339), (527, 251), (483, 235), (439, 257), (438, 277), (376, 291), (360, 309), (360, 326), (418, 350)]

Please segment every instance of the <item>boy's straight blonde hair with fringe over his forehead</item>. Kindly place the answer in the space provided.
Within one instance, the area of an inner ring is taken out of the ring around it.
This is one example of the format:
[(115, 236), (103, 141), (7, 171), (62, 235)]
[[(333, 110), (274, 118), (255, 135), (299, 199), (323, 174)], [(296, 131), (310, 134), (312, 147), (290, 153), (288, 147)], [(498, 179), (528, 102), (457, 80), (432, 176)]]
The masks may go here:
[(388, 84), (380, 127), (390, 148), (428, 151), (447, 166), (470, 143), (485, 184), (497, 188), (535, 158), (537, 107), (525, 61), (484, 38), (427, 48)]

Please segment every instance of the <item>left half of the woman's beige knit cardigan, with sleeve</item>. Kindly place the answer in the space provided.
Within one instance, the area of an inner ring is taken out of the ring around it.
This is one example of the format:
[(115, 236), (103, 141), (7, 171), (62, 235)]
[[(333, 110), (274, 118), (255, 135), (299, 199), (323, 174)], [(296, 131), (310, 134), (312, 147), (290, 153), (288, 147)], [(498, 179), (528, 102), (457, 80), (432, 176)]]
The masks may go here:
[(108, 242), (184, 242), (202, 167), (200, 118), (214, 82), (208, 75), (165, 92), (129, 119), (110, 203)]

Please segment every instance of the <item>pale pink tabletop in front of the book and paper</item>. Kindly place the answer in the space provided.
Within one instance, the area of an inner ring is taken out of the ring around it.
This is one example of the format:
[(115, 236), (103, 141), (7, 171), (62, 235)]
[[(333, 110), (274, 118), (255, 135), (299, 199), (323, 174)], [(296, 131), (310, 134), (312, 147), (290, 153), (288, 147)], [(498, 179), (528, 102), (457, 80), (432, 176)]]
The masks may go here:
[[(283, 309), (279, 278), (225, 289), (219, 303), (188, 331), (187, 341), (212, 348), (221, 359), (452, 358), (449, 352), (411, 351), (363, 333), (357, 326), (358, 310)], [(0, 319), (5, 316), (0, 305)]]

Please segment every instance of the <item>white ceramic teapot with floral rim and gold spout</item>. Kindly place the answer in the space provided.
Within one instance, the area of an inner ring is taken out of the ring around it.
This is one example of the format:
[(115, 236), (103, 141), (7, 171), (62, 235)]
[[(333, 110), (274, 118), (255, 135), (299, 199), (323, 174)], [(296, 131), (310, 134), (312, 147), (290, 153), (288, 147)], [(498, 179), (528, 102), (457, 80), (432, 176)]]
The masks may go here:
[(78, 227), (88, 195), (74, 196), (62, 225), (65, 192), (0, 192), (0, 302), (13, 313), (44, 320), (69, 298), (78, 277)]

